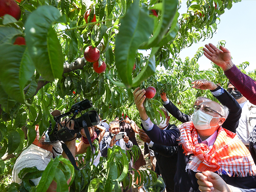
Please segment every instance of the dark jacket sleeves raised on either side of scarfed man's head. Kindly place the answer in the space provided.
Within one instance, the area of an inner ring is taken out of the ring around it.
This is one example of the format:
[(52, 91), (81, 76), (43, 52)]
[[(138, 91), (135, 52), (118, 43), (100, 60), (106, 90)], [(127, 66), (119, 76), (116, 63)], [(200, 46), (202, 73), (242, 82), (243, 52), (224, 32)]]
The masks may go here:
[[(228, 107), (230, 111), (229, 116), (223, 123), (222, 127), (235, 133), (235, 130), (239, 124), (239, 119), (241, 117), (242, 108), (235, 100), (235, 98), (225, 89), (223, 94), (215, 97), (220, 101), (222, 105)], [(170, 114), (172, 114), (173, 117), (178, 119), (180, 122), (185, 123), (190, 121), (190, 116), (182, 113), (171, 101), (164, 105), (164, 107), (167, 109), (167, 111), (169, 111)]]

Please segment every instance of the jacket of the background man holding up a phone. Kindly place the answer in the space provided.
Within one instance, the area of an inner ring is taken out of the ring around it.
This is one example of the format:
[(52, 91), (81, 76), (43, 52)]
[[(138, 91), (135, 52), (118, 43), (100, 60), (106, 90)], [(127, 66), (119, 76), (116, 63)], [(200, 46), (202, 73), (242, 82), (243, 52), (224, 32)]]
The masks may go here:
[[(119, 134), (120, 133), (124, 133), (125, 135), (126, 135), (126, 133), (125, 132), (119, 132)], [(107, 157), (107, 146), (109, 145), (109, 143), (110, 143), (110, 141), (111, 141), (111, 139), (112, 139), (112, 135), (111, 135), (111, 133), (109, 132), (107, 135), (105, 135), (104, 137), (103, 137), (103, 139), (102, 139), (102, 147), (101, 147), (101, 155), (103, 156), (103, 157)], [(126, 151), (126, 148), (131, 148), (132, 146), (133, 146), (133, 144), (132, 144), (132, 141), (130, 141), (129, 140), (129, 142), (128, 142), (128, 144), (126, 144), (125, 142), (124, 142), (124, 139), (120, 139), (119, 140), (119, 144), (120, 144), (120, 147), (121, 147), (121, 149), (124, 149), (125, 151)]]

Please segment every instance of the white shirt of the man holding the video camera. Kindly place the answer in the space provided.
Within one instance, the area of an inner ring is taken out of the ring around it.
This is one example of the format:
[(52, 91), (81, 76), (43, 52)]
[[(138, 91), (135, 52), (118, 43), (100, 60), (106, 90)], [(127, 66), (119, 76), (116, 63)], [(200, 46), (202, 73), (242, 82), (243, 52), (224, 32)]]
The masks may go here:
[[(54, 148), (59, 153), (62, 153), (63, 151), (60, 142), (57, 144), (57, 146), (54, 146)], [(18, 174), (23, 168), (35, 166), (38, 170), (43, 171), (51, 159), (53, 159), (53, 156), (56, 157), (58, 155), (61, 154), (56, 153), (55, 150), (53, 150), (53, 153), (51, 153), (50, 151), (31, 144), (21, 153), (20, 157), (15, 162), (12, 173), (13, 182), (21, 184), (22, 180), (19, 178)], [(35, 185), (38, 185), (40, 179), (41, 177), (38, 177), (36, 179), (31, 179), (31, 181), (33, 181)]]

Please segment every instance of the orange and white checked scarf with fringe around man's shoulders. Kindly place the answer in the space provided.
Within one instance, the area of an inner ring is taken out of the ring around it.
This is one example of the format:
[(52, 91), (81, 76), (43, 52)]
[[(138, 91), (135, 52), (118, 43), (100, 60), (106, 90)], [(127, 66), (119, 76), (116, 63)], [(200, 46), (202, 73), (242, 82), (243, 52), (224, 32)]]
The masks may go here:
[(192, 121), (182, 124), (180, 133), (179, 145), (182, 144), (186, 155), (193, 154), (186, 170), (218, 171), (219, 174), (226, 172), (229, 176), (246, 176), (247, 173), (255, 175), (256, 166), (252, 156), (235, 133), (220, 127), (210, 148), (204, 143), (198, 143), (198, 134)]

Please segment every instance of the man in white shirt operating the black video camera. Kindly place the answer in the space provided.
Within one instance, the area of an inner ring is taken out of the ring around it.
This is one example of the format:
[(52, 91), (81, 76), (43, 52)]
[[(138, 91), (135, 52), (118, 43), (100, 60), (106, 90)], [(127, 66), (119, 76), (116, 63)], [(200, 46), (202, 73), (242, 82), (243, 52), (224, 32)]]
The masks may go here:
[[(70, 118), (68, 119), (65, 118), (61, 122), (61, 124), (63, 126), (66, 124), (66, 127), (69, 130), (74, 129), (74, 121), (73, 120), (70, 121)], [(58, 124), (58, 130), (60, 129), (61, 129), (61, 126)], [(88, 128), (88, 129), (91, 136), (91, 140), (94, 140), (96, 138), (94, 128)], [(18, 174), (23, 168), (35, 166), (38, 170), (45, 170), (45, 168), (47, 167), (51, 159), (55, 158), (58, 155), (62, 155), (64, 158), (69, 159), (62, 149), (60, 141), (46, 142), (45, 141), (46, 135), (43, 135), (39, 140), (38, 125), (35, 126), (35, 131), (36, 131), (36, 138), (34, 142), (21, 153), (20, 157), (16, 160), (16, 163), (14, 165), (12, 178), (13, 178), (13, 181), (16, 183), (21, 184), (22, 182), (22, 180), (18, 177)], [(72, 153), (73, 157), (75, 157), (76, 154), (85, 153), (88, 146), (90, 146), (90, 144), (85, 144), (87, 142), (84, 142), (85, 140), (87, 140), (84, 129), (81, 129), (80, 133), (83, 136), (83, 142), (80, 142), (79, 145), (77, 146), (75, 145), (75, 139), (65, 142), (66, 146)], [(38, 185), (40, 179), (41, 177), (36, 179), (31, 179), (31, 180), (35, 185)], [(67, 181), (67, 184), (69, 184), (69, 182), (70, 180)], [(57, 183), (55, 181), (52, 181), (50, 187), (47, 189), (47, 192), (55, 192), (56, 189), (57, 189)]]

